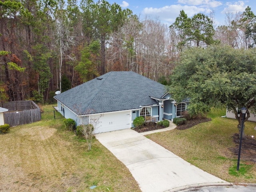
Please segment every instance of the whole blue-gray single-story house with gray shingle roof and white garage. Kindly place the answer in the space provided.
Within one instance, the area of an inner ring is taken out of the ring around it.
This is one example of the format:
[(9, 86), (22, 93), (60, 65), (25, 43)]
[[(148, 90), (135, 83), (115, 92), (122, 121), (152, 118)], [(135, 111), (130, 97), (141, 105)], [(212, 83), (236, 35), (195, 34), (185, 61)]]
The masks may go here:
[(108, 72), (54, 98), (62, 115), (76, 125), (99, 118), (94, 133), (131, 128), (138, 116), (172, 120), (188, 104), (176, 104), (164, 85), (131, 71)]

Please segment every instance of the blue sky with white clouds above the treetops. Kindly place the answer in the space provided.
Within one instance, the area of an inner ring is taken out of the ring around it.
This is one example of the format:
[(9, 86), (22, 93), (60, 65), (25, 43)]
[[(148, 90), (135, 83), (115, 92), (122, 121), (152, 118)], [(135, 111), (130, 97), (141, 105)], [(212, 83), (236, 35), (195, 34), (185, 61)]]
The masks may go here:
[(170, 25), (181, 10), (192, 17), (194, 14), (209, 15), (214, 11), (214, 25), (224, 24), (226, 12), (243, 12), (250, 6), (256, 14), (256, 0), (108, 0), (110, 4), (116, 2), (122, 8), (132, 10), (134, 14), (143, 19), (146, 15), (150, 18), (159, 18), (162, 23)]

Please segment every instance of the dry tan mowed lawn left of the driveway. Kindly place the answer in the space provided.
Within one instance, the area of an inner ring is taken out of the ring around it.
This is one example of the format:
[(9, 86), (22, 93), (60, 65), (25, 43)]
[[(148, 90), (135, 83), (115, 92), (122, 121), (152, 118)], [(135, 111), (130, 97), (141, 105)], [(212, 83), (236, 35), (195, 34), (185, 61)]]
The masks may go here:
[(96, 139), (88, 152), (63, 120), (11, 128), (0, 135), (0, 151), (0, 191), (140, 191), (111, 152)]

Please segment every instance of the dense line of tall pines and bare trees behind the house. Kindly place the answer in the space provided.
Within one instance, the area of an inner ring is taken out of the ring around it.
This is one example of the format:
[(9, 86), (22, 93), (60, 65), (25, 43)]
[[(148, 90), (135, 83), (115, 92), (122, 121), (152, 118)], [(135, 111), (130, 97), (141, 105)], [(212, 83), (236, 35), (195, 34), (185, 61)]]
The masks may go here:
[(171, 26), (139, 18), (105, 0), (1, 0), (0, 99), (47, 101), (113, 70), (168, 83), (181, 53), (222, 42), (254, 48), (255, 15), (246, 8), (226, 24), (182, 10)]

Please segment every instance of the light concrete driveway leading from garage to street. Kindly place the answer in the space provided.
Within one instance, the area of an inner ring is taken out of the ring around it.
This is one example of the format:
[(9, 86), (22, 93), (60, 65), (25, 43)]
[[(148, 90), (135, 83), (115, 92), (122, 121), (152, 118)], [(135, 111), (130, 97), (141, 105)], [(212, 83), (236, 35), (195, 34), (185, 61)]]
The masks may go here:
[(166, 192), (192, 186), (229, 184), (134, 130), (96, 134), (96, 138), (126, 165), (142, 192)]

